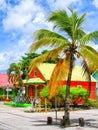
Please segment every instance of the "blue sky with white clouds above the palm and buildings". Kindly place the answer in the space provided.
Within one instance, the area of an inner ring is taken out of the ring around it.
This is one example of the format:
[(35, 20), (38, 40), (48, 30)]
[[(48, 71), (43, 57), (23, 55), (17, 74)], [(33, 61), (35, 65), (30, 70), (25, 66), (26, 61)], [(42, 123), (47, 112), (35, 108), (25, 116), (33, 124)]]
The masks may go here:
[(35, 30), (52, 29), (50, 11), (68, 7), (87, 13), (86, 32), (98, 30), (98, 0), (0, 0), (0, 72), (29, 51)]

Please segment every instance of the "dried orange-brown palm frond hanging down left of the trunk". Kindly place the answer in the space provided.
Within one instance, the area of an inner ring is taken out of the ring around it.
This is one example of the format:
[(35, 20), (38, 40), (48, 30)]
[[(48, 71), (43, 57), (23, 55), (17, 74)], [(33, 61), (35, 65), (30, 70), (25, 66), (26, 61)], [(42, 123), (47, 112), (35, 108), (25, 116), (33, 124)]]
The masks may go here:
[(61, 81), (66, 80), (69, 72), (69, 62), (66, 59), (59, 59), (49, 81), (49, 99), (56, 96), (60, 86), (63, 85)]

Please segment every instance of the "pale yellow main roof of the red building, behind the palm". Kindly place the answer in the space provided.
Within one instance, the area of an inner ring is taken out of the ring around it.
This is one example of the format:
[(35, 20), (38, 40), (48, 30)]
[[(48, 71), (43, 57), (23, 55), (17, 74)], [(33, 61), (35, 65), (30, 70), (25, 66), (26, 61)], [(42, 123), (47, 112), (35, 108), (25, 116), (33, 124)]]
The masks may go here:
[[(55, 64), (42, 63), (37, 66), (42, 75), (46, 80), (50, 79), (53, 72)], [(66, 69), (66, 68), (65, 68)], [(65, 79), (66, 80), (66, 79)], [(72, 72), (72, 81), (88, 81), (86, 75), (83, 75), (83, 68), (81, 66), (75, 66)], [(96, 80), (91, 76), (91, 81), (96, 82)]]

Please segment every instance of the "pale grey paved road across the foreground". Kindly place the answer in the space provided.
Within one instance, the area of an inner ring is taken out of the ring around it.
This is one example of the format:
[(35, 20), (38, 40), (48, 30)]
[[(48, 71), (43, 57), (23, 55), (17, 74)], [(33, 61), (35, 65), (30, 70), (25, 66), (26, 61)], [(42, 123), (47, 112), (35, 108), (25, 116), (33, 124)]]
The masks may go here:
[[(98, 110), (82, 110), (71, 111), (70, 118), (72, 124), (78, 125), (78, 119), (83, 117), (85, 126), (62, 128), (60, 120), (64, 112), (57, 113), (57, 125), (55, 120), (55, 112), (27, 113), (27, 108), (15, 108), (3, 105), (0, 102), (0, 130), (98, 130)], [(53, 124), (47, 125), (47, 117), (53, 118)]]

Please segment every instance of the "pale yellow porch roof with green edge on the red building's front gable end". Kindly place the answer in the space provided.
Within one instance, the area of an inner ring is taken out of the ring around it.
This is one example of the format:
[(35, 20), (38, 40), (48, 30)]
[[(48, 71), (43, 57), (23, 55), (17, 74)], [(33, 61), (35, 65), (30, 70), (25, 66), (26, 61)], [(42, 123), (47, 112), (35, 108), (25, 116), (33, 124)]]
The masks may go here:
[(24, 79), (24, 84), (45, 84), (45, 81), (43, 81), (40, 78), (31, 78), (31, 79)]

